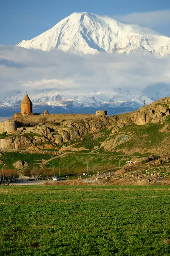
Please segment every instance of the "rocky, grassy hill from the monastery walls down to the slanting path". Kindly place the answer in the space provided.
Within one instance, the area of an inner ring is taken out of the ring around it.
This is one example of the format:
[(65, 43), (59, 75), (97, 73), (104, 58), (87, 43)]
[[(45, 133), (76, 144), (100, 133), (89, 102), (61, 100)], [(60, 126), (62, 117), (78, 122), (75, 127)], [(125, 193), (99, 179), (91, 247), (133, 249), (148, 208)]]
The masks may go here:
[(115, 116), (34, 123), (1, 139), (1, 148), (147, 156), (170, 150), (170, 97)]

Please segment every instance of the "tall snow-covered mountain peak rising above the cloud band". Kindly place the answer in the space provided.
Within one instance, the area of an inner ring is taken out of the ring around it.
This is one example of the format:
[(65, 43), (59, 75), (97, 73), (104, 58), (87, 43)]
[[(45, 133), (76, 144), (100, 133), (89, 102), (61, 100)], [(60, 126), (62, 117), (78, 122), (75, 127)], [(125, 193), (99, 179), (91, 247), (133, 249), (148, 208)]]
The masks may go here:
[(82, 12), (73, 13), (41, 35), (16, 46), (44, 51), (58, 48), (77, 54), (128, 54), (142, 50), (162, 57), (170, 53), (170, 38), (150, 28)]

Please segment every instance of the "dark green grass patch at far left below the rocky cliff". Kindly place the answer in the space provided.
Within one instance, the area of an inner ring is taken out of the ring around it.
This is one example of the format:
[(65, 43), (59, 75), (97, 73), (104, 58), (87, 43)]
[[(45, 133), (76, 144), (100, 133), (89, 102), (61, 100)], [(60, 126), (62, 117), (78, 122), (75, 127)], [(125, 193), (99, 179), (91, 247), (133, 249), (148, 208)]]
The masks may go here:
[[(18, 153), (18, 152), (4, 152), (3, 156), (0, 156), (0, 160), (3, 160), (3, 164), (6, 164), (6, 168), (13, 169), (13, 163), (16, 163), (18, 160), (25, 161), (29, 165), (36, 163), (37, 160), (48, 160), (52, 158), (51, 154), (29, 154), (29, 153)], [(2, 164), (2, 165), (3, 165)], [(1, 166), (2, 166), (1, 165)]]

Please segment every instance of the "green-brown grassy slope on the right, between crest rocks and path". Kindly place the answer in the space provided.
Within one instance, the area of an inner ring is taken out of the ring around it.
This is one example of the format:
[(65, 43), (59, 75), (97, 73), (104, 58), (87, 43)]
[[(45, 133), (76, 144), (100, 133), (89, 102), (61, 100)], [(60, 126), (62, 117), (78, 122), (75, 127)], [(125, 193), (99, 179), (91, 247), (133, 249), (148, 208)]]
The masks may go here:
[(112, 134), (112, 129), (103, 129), (95, 134), (87, 134), (84, 140), (77, 141), (68, 151), (74, 148), (85, 148), (79, 152), (129, 154), (148, 156), (164, 154), (170, 151), (170, 117), (156, 124), (125, 125), (120, 131)]

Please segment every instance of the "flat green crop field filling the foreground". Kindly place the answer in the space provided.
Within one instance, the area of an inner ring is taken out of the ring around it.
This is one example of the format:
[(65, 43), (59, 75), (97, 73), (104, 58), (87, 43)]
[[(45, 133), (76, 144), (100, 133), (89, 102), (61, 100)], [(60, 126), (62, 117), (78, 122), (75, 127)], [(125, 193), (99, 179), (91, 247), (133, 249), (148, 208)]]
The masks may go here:
[(2, 186), (0, 256), (170, 255), (170, 186)]

